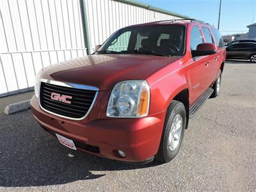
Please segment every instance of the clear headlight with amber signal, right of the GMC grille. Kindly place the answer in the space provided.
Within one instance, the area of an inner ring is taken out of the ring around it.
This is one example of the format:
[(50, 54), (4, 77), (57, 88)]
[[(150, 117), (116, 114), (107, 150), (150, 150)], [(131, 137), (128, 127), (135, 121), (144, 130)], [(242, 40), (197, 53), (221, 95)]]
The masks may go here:
[(122, 81), (113, 88), (107, 109), (109, 117), (139, 118), (148, 115), (150, 90), (147, 81)]

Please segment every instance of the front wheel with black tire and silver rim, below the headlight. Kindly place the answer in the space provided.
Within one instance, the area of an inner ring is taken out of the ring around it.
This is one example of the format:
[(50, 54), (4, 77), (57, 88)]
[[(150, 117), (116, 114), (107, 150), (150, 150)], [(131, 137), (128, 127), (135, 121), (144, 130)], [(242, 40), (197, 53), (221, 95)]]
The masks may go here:
[[(177, 128), (179, 127), (179, 129), (177, 129), (176, 131), (174, 131), (175, 125), (177, 125)], [(180, 145), (183, 140), (185, 128), (186, 128), (185, 106), (184, 104), (182, 104), (182, 102), (173, 100), (172, 104), (170, 104), (166, 112), (166, 118), (164, 122), (161, 143), (160, 143), (158, 152), (155, 156), (156, 161), (159, 161), (160, 163), (167, 163), (167, 162), (170, 162), (175, 156), (177, 156)], [(172, 136), (170, 134), (172, 134)], [(178, 141), (177, 141), (177, 136), (179, 136)]]

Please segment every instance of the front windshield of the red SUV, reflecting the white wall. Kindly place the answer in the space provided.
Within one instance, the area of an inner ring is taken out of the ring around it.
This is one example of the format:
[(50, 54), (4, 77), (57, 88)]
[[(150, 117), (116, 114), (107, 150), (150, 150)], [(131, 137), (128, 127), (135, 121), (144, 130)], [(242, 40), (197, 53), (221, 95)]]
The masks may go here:
[(185, 26), (147, 26), (116, 31), (96, 54), (152, 54), (181, 56)]

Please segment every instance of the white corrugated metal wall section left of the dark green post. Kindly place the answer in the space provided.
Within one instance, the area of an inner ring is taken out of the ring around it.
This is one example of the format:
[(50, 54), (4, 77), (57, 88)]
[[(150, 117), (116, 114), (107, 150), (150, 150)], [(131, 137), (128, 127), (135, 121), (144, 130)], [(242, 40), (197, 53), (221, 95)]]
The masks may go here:
[(33, 88), (43, 67), (86, 54), (79, 0), (0, 1), (0, 96)]

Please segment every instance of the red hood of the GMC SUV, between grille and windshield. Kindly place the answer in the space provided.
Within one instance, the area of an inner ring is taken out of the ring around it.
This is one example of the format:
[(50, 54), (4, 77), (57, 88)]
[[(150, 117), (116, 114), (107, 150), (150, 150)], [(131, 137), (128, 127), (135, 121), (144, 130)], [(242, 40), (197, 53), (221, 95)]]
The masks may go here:
[(51, 65), (44, 69), (42, 78), (111, 90), (120, 81), (147, 79), (179, 58), (180, 56), (93, 54)]

